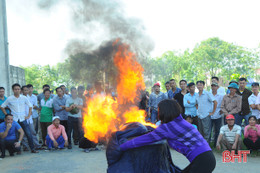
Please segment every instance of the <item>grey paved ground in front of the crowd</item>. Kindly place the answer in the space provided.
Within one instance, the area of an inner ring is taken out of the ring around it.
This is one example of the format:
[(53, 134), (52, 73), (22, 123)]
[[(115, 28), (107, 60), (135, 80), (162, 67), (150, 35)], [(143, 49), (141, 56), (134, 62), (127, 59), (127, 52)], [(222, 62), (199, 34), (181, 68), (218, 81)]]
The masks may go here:
[[(171, 151), (173, 162), (180, 168), (188, 165), (188, 160)], [(7, 152), (8, 155), (8, 152)], [(249, 157), (247, 163), (222, 163), (222, 156), (215, 153), (217, 166), (214, 173), (259, 173), (260, 156)], [(105, 151), (84, 153), (74, 147), (72, 150), (40, 151), (38, 154), (24, 152), (22, 155), (0, 160), (0, 173), (105, 173), (107, 168)], [(257, 171), (258, 170), (258, 171)]]

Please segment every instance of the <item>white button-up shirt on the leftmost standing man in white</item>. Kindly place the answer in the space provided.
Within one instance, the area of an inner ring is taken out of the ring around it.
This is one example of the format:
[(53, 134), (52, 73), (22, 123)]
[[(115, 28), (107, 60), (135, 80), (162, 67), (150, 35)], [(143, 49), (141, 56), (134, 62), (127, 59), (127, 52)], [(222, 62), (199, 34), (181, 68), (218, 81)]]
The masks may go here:
[(14, 95), (8, 97), (6, 101), (1, 105), (1, 107), (9, 107), (11, 109), (11, 114), (13, 115), (14, 121), (24, 121), (25, 117), (28, 116), (26, 114), (26, 105), (30, 108), (32, 104), (28, 100), (27, 97), (23, 95), (19, 95), (19, 97), (15, 97)]

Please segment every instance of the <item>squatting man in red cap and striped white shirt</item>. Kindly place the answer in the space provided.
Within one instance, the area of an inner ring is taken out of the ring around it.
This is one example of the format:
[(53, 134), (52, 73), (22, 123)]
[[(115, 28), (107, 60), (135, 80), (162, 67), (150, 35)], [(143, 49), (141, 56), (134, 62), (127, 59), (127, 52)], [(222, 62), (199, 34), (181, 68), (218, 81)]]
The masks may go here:
[(231, 114), (226, 116), (227, 124), (220, 128), (217, 149), (239, 150), (242, 140), (240, 138), (241, 127), (235, 124), (235, 117)]

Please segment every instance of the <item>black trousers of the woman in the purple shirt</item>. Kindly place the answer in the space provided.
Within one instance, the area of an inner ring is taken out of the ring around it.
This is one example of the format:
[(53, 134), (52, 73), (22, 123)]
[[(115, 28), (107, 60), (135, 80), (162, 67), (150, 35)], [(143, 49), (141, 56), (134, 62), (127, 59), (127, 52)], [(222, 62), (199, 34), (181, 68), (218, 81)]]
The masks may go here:
[(216, 167), (216, 159), (212, 151), (198, 155), (182, 172), (183, 173), (211, 173)]

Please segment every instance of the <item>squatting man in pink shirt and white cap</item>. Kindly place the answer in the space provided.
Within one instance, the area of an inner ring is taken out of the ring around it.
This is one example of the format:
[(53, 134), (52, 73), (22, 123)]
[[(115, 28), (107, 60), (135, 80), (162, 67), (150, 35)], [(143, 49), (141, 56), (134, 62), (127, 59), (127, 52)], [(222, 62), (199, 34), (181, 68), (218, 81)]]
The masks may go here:
[(46, 145), (48, 149), (64, 148), (68, 146), (68, 136), (63, 125), (60, 125), (60, 117), (54, 116), (52, 118), (52, 125), (47, 129)]

